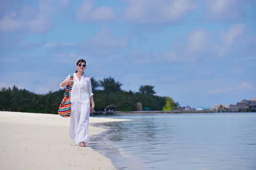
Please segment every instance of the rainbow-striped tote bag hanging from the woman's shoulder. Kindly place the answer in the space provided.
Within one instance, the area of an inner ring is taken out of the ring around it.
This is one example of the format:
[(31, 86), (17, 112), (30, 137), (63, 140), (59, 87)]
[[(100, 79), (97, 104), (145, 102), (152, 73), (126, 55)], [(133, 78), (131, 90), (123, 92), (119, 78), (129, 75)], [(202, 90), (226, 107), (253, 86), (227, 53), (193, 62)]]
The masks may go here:
[[(73, 80), (74, 75), (70, 74), (70, 80)], [(62, 117), (70, 117), (71, 114), (71, 91), (72, 85), (67, 85), (64, 92), (64, 98), (61, 101), (61, 104), (58, 109), (58, 114)]]

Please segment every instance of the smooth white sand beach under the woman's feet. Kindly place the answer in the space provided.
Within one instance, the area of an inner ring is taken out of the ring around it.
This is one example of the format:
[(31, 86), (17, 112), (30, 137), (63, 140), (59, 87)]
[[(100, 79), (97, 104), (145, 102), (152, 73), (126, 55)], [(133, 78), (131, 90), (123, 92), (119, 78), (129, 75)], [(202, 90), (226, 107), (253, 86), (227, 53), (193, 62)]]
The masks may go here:
[[(1, 170), (114, 170), (110, 159), (69, 137), (69, 118), (59, 115), (0, 112)], [(96, 122), (127, 121), (90, 117), (89, 135), (105, 129)], [(90, 141), (90, 139), (89, 139)]]

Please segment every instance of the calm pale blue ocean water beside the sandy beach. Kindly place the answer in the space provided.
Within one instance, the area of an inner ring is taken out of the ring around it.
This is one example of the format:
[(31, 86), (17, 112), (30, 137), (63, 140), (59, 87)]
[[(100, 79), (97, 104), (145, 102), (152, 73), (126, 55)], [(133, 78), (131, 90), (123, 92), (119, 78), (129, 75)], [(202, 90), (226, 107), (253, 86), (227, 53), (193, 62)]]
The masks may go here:
[(256, 170), (256, 113), (98, 116), (89, 145), (119, 170)]

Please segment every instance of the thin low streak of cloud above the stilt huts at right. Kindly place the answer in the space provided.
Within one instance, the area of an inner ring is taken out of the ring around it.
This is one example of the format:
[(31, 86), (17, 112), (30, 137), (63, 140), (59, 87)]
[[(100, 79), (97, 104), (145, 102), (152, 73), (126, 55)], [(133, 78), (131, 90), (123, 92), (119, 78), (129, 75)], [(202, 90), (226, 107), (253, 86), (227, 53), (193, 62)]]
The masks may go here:
[(236, 90), (251, 90), (253, 89), (252, 85), (250, 85), (248, 82), (242, 82), (241, 85), (236, 87), (227, 87), (227, 88), (216, 88), (212, 91), (208, 91), (207, 94), (227, 94), (230, 91), (236, 91)]

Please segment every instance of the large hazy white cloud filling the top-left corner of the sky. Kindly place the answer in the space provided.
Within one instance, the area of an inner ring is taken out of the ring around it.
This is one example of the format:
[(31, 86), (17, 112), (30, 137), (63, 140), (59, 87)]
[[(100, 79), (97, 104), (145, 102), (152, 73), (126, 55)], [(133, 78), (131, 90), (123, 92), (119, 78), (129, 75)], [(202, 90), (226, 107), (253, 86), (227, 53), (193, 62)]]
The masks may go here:
[(58, 12), (55, 2), (67, 5), (67, 0), (40, 0), (39, 8), (23, 6), (8, 11), (0, 20), (0, 31), (45, 32), (52, 28), (52, 14)]

